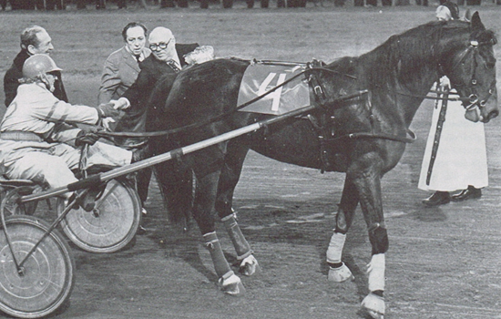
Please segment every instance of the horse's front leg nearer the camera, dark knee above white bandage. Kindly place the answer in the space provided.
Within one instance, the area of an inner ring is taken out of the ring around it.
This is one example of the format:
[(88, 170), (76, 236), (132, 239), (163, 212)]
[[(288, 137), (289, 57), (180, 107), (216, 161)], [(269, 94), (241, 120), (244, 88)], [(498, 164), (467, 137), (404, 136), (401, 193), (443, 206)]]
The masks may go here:
[(370, 293), (363, 299), (362, 307), (373, 318), (383, 319), (385, 311), (384, 253), (388, 251), (389, 244), (381, 196), (382, 161), (371, 158), (367, 160), (367, 163), (370, 164), (353, 170), (353, 181), (358, 190), (363, 218), (369, 232), (369, 241), (373, 247), (372, 259), (367, 269)]

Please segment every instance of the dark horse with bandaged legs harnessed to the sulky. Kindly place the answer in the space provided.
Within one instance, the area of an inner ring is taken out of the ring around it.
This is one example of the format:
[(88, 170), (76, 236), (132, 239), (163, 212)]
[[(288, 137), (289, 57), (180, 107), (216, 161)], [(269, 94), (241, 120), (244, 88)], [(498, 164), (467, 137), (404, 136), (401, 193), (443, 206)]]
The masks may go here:
[[(309, 117), (290, 118), (264, 131), (158, 165), (159, 182), (166, 190), (171, 213), (185, 213), (191, 205), (176, 192), (175, 172), (194, 171), (197, 187), (192, 213), (210, 250), (222, 290), (239, 294), (243, 286), (221, 251), (215, 212), (226, 225), (247, 274), (253, 273), (257, 265), (231, 209), (243, 161), (248, 150), (254, 149), (275, 160), (346, 173), (327, 251), (329, 279), (343, 282), (352, 278), (341, 254), (345, 234), (360, 203), (373, 247), (368, 275), (371, 293), (362, 306), (374, 318), (383, 317), (388, 236), (381, 179), (401, 159), (414, 114), (440, 77), (449, 77), (458, 91), (466, 118), (483, 122), (496, 118), (495, 44), (494, 33), (486, 30), (478, 13), (472, 16), (471, 23), (437, 21), (417, 26), (391, 36), (360, 57), (343, 57), (307, 70), (309, 78), (321, 88), (321, 96), (317, 96), (319, 108)], [(161, 81), (150, 100), (148, 130), (176, 129), (221, 114), (226, 116), (203, 127), (181, 130), (168, 139), (152, 139), (151, 148), (157, 154), (163, 153), (270, 117), (235, 111), (240, 82), (249, 64), (239, 59), (217, 59), (183, 70), (175, 80)], [(343, 99), (363, 91), (368, 93)], [(331, 132), (329, 139), (322, 134), (325, 129)]]

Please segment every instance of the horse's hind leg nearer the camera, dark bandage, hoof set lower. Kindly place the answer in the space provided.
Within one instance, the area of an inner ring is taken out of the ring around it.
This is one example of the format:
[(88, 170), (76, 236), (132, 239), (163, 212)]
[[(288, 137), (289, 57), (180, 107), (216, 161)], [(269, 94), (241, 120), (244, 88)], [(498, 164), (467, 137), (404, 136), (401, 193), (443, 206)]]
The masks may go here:
[[(199, 157), (199, 155), (197, 155)], [(210, 252), (210, 257), (214, 263), (214, 270), (218, 275), (220, 289), (224, 293), (231, 295), (240, 295), (245, 293), (245, 288), (240, 278), (233, 273), (230, 264), (224, 257), (220, 240), (216, 233), (215, 221), (212, 215), (218, 190), (218, 180), (220, 178), (220, 167), (218, 163), (212, 162), (214, 158), (210, 156), (205, 158), (206, 162), (195, 161), (195, 176), (197, 177), (197, 186), (195, 191), (195, 200), (193, 204), (193, 218), (199, 225), (200, 232), (205, 241), (205, 247)], [(217, 162), (222, 160), (216, 160)]]

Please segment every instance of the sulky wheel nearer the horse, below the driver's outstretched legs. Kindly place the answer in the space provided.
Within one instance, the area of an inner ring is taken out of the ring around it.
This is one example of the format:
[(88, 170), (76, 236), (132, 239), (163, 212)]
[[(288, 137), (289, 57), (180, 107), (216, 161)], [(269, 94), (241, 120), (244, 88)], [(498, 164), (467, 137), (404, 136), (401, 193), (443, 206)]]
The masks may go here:
[[(65, 202), (57, 201), (57, 214)], [(110, 180), (97, 197), (93, 211), (71, 210), (61, 227), (71, 242), (87, 252), (117, 252), (138, 232), (141, 204), (138, 192), (128, 182)]]

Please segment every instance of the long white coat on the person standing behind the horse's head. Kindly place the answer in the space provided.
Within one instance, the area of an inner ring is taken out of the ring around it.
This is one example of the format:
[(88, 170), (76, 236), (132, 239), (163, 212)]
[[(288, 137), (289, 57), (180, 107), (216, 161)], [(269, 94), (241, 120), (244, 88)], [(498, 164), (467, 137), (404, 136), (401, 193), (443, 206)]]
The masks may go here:
[(435, 139), (441, 103), (434, 109), (432, 127), (424, 150), (419, 176), (420, 190), (465, 190), (468, 185), (477, 189), (488, 185), (486, 134), (484, 124), (465, 118), (465, 108), (459, 101), (449, 101), (440, 136), (430, 184), (426, 174)]

